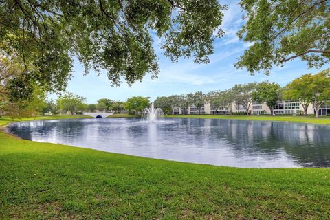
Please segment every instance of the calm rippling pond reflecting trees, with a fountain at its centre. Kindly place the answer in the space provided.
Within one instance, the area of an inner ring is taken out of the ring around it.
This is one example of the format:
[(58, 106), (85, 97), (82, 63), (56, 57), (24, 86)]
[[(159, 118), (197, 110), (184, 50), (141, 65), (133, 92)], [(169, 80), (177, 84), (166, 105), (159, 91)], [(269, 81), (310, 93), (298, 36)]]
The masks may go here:
[(330, 126), (247, 120), (132, 118), (10, 124), (26, 140), (179, 162), (236, 167), (330, 167)]

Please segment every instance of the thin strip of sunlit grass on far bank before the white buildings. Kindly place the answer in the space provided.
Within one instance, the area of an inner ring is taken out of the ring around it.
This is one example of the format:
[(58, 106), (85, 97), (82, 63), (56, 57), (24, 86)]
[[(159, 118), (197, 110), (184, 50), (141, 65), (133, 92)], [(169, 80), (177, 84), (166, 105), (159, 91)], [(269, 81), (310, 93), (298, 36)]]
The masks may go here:
[(330, 117), (305, 117), (305, 116), (271, 116), (271, 115), (166, 115), (168, 118), (217, 118), (234, 120), (270, 120), (279, 122), (300, 122), (312, 124), (330, 124)]

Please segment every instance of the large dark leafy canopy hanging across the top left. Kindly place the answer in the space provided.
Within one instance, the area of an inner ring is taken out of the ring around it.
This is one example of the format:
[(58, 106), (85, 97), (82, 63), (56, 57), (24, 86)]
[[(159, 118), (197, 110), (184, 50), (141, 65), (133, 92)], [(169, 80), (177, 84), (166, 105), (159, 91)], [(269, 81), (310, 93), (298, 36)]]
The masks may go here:
[(0, 52), (49, 91), (65, 89), (73, 56), (131, 85), (159, 72), (154, 35), (171, 60), (207, 63), (223, 10), (217, 0), (0, 0)]

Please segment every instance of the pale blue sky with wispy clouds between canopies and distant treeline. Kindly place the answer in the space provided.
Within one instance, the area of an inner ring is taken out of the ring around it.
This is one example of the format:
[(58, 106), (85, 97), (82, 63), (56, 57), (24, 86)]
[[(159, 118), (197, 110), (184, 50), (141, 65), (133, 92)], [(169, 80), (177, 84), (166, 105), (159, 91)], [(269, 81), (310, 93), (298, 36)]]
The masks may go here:
[[(228, 1), (220, 1), (223, 5)], [(78, 61), (74, 63), (74, 77), (69, 80), (67, 91), (87, 98), (87, 103), (96, 103), (100, 98), (125, 101), (131, 96), (145, 96), (154, 100), (157, 96), (187, 94), (195, 91), (225, 90), (238, 83), (261, 82), (269, 80), (285, 86), (303, 74), (316, 73), (319, 69), (308, 69), (307, 63), (299, 59), (285, 63), (284, 67), (274, 67), (270, 76), (255, 74), (251, 76), (245, 69), (236, 69), (234, 63), (248, 48), (236, 36), (244, 21), (237, 1), (230, 1), (225, 11), (221, 28), (225, 36), (214, 41), (214, 54), (210, 56), (210, 63), (195, 64), (193, 59), (180, 59), (172, 63), (162, 55), (160, 40), (155, 39), (155, 52), (159, 58), (160, 73), (158, 78), (151, 80), (146, 74), (142, 82), (136, 82), (131, 87), (125, 82), (120, 87), (111, 87), (106, 74), (96, 76), (89, 72), (84, 76), (84, 67)], [(322, 69), (325, 69), (323, 67)]]

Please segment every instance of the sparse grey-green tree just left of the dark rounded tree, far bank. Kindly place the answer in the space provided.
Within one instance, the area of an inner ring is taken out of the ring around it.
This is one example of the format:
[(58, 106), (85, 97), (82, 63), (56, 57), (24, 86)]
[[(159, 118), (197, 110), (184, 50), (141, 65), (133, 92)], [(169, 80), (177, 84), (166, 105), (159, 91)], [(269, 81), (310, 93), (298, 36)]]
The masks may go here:
[(252, 92), (256, 89), (256, 83), (236, 84), (232, 87), (234, 100), (237, 104), (241, 104), (246, 111), (246, 115), (249, 115), (250, 105), (253, 102)]

